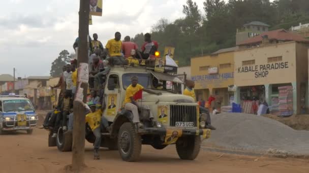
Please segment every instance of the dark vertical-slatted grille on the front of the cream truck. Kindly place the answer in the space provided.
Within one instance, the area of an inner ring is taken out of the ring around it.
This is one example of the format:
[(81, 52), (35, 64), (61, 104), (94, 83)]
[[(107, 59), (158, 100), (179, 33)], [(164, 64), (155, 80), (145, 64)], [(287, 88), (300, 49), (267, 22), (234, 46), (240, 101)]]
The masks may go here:
[(196, 106), (170, 105), (170, 125), (176, 122), (194, 122), (197, 126)]

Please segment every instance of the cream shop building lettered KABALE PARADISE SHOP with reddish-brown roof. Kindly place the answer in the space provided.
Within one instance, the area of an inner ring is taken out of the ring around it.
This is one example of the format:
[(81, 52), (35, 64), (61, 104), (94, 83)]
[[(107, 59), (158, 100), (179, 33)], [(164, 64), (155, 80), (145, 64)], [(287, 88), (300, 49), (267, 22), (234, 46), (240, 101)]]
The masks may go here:
[[(234, 53), (235, 102), (257, 101), (274, 106), (283, 98), (281, 86), (291, 86), (294, 114), (308, 108), (309, 40), (284, 29), (265, 32), (243, 41)], [(276, 102), (276, 103), (274, 103)]]

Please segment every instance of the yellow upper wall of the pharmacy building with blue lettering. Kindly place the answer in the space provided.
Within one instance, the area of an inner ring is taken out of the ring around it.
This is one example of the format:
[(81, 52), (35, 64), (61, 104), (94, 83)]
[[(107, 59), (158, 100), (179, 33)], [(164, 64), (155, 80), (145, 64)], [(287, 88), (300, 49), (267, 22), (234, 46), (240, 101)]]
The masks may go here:
[[(229, 68), (220, 68), (220, 64), (230, 63)], [(204, 56), (191, 58), (191, 76), (195, 81), (195, 89), (227, 88), (234, 84), (234, 52), (218, 54), (217, 56)], [(218, 74), (208, 74), (208, 70), (200, 67), (218, 67)]]

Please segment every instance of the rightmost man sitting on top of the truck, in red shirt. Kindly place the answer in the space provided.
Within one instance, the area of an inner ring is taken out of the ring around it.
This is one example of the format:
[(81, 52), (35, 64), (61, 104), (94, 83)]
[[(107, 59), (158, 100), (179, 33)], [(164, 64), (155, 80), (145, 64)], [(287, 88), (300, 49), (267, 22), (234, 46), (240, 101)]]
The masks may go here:
[(144, 35), (145, 43), (142, 46), (142, 59), (148, 59), (150, 56), (154, 56), (154, 53), (158, 51), (159, 45), (157, 41), (151, 40), (151, 35), (146, 33)]

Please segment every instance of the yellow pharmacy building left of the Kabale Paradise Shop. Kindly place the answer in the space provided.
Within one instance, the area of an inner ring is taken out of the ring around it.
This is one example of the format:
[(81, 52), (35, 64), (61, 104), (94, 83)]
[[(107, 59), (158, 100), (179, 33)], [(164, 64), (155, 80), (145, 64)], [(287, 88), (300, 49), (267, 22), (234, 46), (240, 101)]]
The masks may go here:
[(191, 76), (195, 81), (197, 100), (207, 100), (210, 95), (221, 98), (221, 106), (229, 105), (234, 83), (234, 48), (222, 49), (208, 56), (191, 58)]

